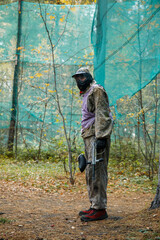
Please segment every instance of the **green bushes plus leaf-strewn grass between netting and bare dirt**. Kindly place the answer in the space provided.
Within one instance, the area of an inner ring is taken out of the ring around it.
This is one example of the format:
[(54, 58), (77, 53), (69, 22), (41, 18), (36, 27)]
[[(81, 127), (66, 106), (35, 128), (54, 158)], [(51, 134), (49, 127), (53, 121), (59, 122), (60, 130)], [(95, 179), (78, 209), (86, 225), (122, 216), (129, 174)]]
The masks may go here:
[[(84, 150), (81, 148), (72, 149), (77, 176), (80, 174), (77, 156)], [(18, 149), (18, 155), (11, 156), (5, 148), (1, 148), (0, 180), (20, 182), (46, 191), (70, 188), (68, 152), (65, 145), (58, 144), (54, 149), (41, 151), (39, 160), (37, 151), (32, 148)], [(158, 158), (155, 160), (155, 166), (156, 164), (158, 165)], [(156, 167), (151, 181), (148, 177), (148, 166), (144, 164), (144, 159), (131, 143), (111, 145), (108, 172), (110, 184), (115, 184), (117, 188), (136, 190), (143, 188), (144, 191), (155, 191), (158, 183)], [(83, 187), (84, 182), (81, 184), (79, 181), (78, 184)]]

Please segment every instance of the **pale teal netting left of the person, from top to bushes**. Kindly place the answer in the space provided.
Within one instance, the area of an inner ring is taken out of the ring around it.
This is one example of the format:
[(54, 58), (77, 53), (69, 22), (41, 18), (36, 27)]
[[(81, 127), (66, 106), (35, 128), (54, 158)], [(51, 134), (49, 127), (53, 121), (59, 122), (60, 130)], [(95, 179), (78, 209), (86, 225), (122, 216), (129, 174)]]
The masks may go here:
[[(90, 33), (94, 11), (94, 5), (22, 1), (17, 49), (20, 56), (17, 106), (20, 146), (24, 143), (37, 146), (42, 139), (46, 147), (55, 137), (64, 136), (64, 127), (68, 138), (80, 136), (81, 102), (71, 76), (80, 66), (90, 66), (92, 71)], [(0, 14), (0, 129), (1, 142), (7, 143), (16, 62), (18, 2), (0, 5)]]

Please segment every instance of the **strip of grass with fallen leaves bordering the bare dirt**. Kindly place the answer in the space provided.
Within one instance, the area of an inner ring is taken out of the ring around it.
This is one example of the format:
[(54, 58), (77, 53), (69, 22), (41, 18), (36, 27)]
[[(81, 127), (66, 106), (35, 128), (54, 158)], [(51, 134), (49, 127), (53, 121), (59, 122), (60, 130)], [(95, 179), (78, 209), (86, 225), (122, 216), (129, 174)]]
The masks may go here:
[[(117, 169), (109, 164), (109, 186), (108, 192), (125, 189), (125, 191), (155, 192), (157, 179), (150, 181), (147, 176), (134, 173), (129, 169), (121, 167)], [(77, 169), (76, 184), (80, 188), (86, 188), (85, 177), (79, 174)], [(83, 180), (82, 180), (83, 179)], [(69, 184), (68, 174), (63, 170), (61, 162), (18, 162), (13, 159), (0, 158), (0, 180), (17, 182), (21, 186), (28, 188), (40, 188), (46, 192), (73, 190)], [(76, 187), (75, 187), (76, 189)]]

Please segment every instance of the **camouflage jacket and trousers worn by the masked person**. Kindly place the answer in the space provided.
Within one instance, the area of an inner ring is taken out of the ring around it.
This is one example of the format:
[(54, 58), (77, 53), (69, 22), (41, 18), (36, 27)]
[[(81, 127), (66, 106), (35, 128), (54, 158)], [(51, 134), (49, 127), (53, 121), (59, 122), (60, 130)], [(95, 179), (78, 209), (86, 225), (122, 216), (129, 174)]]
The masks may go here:
[[(94, 84), (94, 87), (93, 87)], [(87, 161), (92, 161), (93, 142), (98, 138), (106, 138), (107, 143), (105, 149), (97, 152), (97, 158), (103, 158), (103, 162), (96, 163), (95, 180), (92, 179), (92, 166), (86, 167), (86, 183), (88, 189), (91, 208), (105, 209), (107, 204), (107, 165), (110, 148), (110, 135), (112, 131), (112, 119), (109, 116), (108, 96), (102, 86), (95, 82), (87, 90), (87, 110), (95, 113), (95, 122), (87, 129), (82, 130), (82, 137), (85, 144), (85, 155)]]

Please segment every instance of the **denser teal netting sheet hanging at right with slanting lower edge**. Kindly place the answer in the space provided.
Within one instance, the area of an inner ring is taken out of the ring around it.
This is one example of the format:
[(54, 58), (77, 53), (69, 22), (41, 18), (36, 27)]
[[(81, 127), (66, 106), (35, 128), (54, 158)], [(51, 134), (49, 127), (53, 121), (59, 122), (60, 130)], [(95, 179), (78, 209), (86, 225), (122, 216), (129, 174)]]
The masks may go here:
[(95, 78), (115, 104), (160, 71), (160, 1), (99, 0), (95, 16)]

